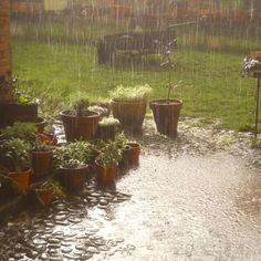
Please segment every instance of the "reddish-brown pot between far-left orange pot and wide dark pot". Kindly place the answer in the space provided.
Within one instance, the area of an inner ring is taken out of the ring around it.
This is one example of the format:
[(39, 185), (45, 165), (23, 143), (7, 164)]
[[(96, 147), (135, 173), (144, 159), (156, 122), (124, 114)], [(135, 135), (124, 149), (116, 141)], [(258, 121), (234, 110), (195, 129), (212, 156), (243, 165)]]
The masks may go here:
[(32, 152), (32, 167), (34, 177), (44, 177), (49, 174), (53, 152)]

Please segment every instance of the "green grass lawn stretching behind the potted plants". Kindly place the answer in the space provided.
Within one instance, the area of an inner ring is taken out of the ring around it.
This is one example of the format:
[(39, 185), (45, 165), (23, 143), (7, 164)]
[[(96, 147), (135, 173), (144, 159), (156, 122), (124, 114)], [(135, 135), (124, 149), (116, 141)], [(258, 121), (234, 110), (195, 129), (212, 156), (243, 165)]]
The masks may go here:
[[(148, 83), (152, 98), (167, 94), (168, 72), (156, 55), (148, 61), (117, 56), (113, 66), (100, 65), (96, 49), (88, 45), (13, 41), (13, 73), (20, 88), (41, 100), (42, 112), (56, 115), (74, 95), (107, 98), (118, 84)], [(173, 82), (181, 81), (173, 97), (184, 101), (182, 116), (220, 119), (220, 127), (242, 129), (253, 123), (255, 81), (240, 75), (242, 54), (174, 51)], [(148, 112), (149, 113), (149, 112)]]

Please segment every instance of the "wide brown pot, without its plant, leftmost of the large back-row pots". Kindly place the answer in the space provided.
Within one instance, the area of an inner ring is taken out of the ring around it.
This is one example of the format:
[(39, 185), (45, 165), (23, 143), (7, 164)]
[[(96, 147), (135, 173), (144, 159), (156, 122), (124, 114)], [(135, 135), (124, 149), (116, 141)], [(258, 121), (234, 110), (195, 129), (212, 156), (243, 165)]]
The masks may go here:
[(100, 121), (100, 115), (97, 113), (90, 113), (88, 116), (75, 116), (72, 115), (70, 111), (64, 111), (60, 115), (63, 121), (67, 142), (95, 139), (97, 123)]

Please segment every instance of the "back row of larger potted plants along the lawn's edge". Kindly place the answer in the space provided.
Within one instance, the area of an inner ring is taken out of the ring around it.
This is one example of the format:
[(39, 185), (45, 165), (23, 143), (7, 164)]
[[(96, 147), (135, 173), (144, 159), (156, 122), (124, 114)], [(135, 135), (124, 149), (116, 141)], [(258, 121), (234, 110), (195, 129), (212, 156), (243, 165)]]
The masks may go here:
[[(149, 102), (157, 130), (169, 136), (177, 134), (182, 106), (180, 100), (170, 98), (170, 90), (176, 86), (169, 83), (167, 98)], [(98, 137), (113, 139), (118, 124), (127, 133), (140, 133), (150, 92), (152, 88), (147, 84), (119, 85), (111, 92), (111, 103), (102, 104), (103, 107), (101, 104), (90, 106), (88, 100), (84, 97), (75, 100), (72, 103), (72, 109), (61, 113), (66, 140), (94, 140)], [(114, 118), (103, 118), (109, 115), (111, 109)]]

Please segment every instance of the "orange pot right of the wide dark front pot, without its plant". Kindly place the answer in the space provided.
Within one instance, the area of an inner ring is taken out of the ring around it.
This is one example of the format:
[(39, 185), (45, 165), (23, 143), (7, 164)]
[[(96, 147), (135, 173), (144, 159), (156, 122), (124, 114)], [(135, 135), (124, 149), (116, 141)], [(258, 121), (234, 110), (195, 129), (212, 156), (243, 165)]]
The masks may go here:
[(117, 176), (117, 170), (118, 170), (118, 167), (116, 164), (113, 166), (106, 167), (96, 159), (95, 169), (96, 169), (98, 182), (114, 182), (115, 181), (116, 176)]

